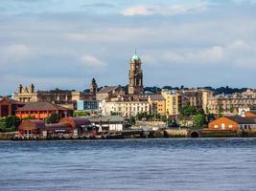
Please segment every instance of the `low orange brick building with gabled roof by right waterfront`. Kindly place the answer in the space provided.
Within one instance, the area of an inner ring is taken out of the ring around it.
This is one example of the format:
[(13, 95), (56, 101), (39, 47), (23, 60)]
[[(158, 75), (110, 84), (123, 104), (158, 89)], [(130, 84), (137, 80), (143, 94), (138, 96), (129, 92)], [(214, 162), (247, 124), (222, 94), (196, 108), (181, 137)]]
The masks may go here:
[(256, 117), (220, 117), (208, 124), (210, 130), (255, 129)]

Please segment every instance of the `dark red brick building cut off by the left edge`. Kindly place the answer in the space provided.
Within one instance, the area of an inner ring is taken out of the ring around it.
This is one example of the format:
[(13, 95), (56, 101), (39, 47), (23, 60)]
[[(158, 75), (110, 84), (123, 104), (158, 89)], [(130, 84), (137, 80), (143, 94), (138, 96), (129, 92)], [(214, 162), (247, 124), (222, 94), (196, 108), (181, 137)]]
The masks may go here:
[(24, 105), (24, 103), (15, 101), (11, 98), (2, 97), (0, 98), (0, 117), (15, 115), (15, 111)]

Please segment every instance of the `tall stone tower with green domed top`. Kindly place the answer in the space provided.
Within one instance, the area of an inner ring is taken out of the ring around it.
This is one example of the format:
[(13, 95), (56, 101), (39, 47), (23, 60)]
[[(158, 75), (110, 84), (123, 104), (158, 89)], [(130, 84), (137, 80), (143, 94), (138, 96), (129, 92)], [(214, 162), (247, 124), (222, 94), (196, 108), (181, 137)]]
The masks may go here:
[(130, 59), (128, 73), (128, 94), (140, 95), (143, 93), (143, 74), (141, 60), (136, 51)]

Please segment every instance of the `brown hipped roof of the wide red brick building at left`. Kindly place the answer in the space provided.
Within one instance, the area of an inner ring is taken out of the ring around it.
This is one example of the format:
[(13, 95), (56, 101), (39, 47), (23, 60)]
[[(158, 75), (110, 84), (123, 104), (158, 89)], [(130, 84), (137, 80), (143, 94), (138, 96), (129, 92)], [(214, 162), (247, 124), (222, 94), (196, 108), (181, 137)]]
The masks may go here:
[(19, 108), (17, 111), (57, 111), (57, 110), (70, 110), (64, 107), (61, 107), (57, 104), (53, 104), (47, 101), (40, 102), (30, 102), (22, 108)]

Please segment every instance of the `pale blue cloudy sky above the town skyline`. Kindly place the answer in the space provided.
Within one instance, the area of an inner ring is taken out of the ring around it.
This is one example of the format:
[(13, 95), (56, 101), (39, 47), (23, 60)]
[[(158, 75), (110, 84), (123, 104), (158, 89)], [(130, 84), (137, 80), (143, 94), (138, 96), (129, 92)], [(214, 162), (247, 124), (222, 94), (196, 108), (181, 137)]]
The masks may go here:
[(0, 95), (17, 86), (256, 88), (256, 0), (0, 0)]

